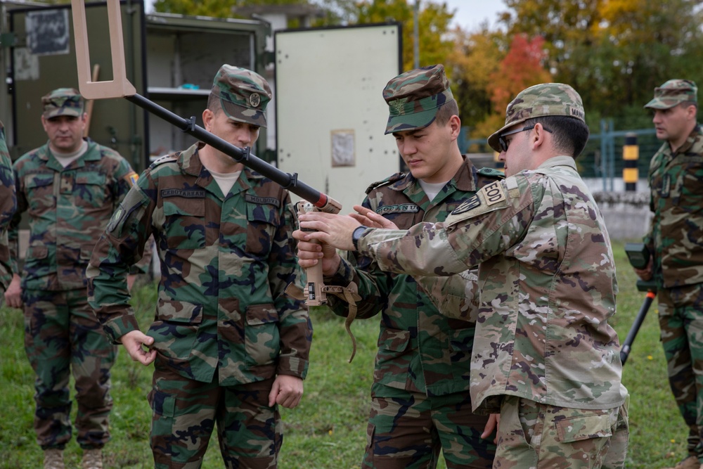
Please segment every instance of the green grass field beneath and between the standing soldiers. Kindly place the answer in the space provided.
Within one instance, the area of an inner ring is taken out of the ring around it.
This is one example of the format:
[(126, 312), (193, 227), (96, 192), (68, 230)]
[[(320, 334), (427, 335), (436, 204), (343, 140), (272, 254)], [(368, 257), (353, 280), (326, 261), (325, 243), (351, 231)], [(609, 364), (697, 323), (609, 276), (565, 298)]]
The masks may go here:
[[(623, 341), (644, 300), (621, 243), (614, 246), (620, 285), (613, 326)], [(153, 285), (137, 288), (134, 304), (146, 326), (153, 316)], [(659, 345), (654, 314), (647, 316), (624, 368), (631, 393), (630, 450), (626, 467), (663, 468), (685, 456), (686, 429), (666, 382), (666, 363)], [(366, 444), (366, 416), (378, 335), (378, 321), (356, 321), (356, 358), (347, 363), (352, 345), (342, 319), (325, 309), (311, 311), (314, 342), (305, 394), (297, 409), (283, 409), (285, 439), (280, 469), (352, 469)], [(0, 468), (39, 468), (41, 450), (32, 430), (34, 375), (22, 345), (22, 314), (0, 310)], [(113, 368), (112, 441), (105, 446), (106, 468), (153, 467), (148, 444), (150, 409), (146, 394), (151, 368), (131, 361), (120, 351)], [(75, 406), (74, 406), (75, 409)], [(74, 410), (75, 412), (75, 410)], [(216, 438), (216, 437), (215, 437)], [(77, 468), (80, 450), (72, 441), (65, 451), (67, 467)], [(221, 468), (217, 442), (212, 441), (203, 468)], [(444, 463), (440, 463), (444, 468)]]

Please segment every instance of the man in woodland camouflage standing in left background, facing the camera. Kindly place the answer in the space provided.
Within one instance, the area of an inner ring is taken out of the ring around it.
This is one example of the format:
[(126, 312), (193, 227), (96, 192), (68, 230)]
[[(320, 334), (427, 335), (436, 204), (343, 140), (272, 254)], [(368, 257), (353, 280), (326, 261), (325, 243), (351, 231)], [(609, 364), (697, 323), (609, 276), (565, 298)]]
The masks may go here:
[[(88, 305), (85, 269), (96, 240), (137, 176), (117, 152), (83, 139), (87, 116), (78, 91), (56, 89), (41, 101), (49, 141), (14, 165), (14, 274), (5, 296), (9, 306), (24, 309), (25, 349), (37, 373), (34, 430), (44, 449), (44, 467), (63, 468), (62, 451), (72, 432), (72, 371), (83, 467), (101, 468), (101, 448), (110, 439), (110, 368), (116, 355)], [(30, 217), (30, 243), (20, 279), (22, 212)]]

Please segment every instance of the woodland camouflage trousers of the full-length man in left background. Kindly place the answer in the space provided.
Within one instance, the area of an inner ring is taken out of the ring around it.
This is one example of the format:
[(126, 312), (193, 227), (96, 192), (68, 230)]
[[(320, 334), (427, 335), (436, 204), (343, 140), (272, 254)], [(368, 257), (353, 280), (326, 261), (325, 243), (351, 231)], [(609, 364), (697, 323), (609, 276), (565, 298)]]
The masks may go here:
[(110, 368), (117, 349), (86, 300), (86, 290), (25, 290), (25, 352), (36, 374), (34, 430), (43, 449), (71, 439), (70, 373), (75, 379), (77, 442), (100, 448), (110, 439)]

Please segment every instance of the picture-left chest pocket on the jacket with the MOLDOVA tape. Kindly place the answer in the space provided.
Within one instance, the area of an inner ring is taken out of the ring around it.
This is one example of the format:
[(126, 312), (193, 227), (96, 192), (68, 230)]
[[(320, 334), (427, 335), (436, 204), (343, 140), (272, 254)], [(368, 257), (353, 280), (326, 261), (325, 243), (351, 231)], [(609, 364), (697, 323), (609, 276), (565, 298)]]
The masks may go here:
[(205, 248), (205, 198), (165, 199), (164, 231), (171, 249)]

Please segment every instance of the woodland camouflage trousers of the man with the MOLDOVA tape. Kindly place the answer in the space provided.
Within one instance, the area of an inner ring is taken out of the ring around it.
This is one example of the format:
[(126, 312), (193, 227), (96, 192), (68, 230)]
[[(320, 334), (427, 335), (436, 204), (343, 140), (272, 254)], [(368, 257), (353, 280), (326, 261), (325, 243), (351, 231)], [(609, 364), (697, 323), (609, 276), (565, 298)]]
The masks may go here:
[(157, 358), (149, 394), (155, 469), (200, 468), (215, 423), (225, 468), (275, 469), (283, 430), (278, 406), (269, 407), (272, 385), (221, 386), (217, 374), (202, 383)]

